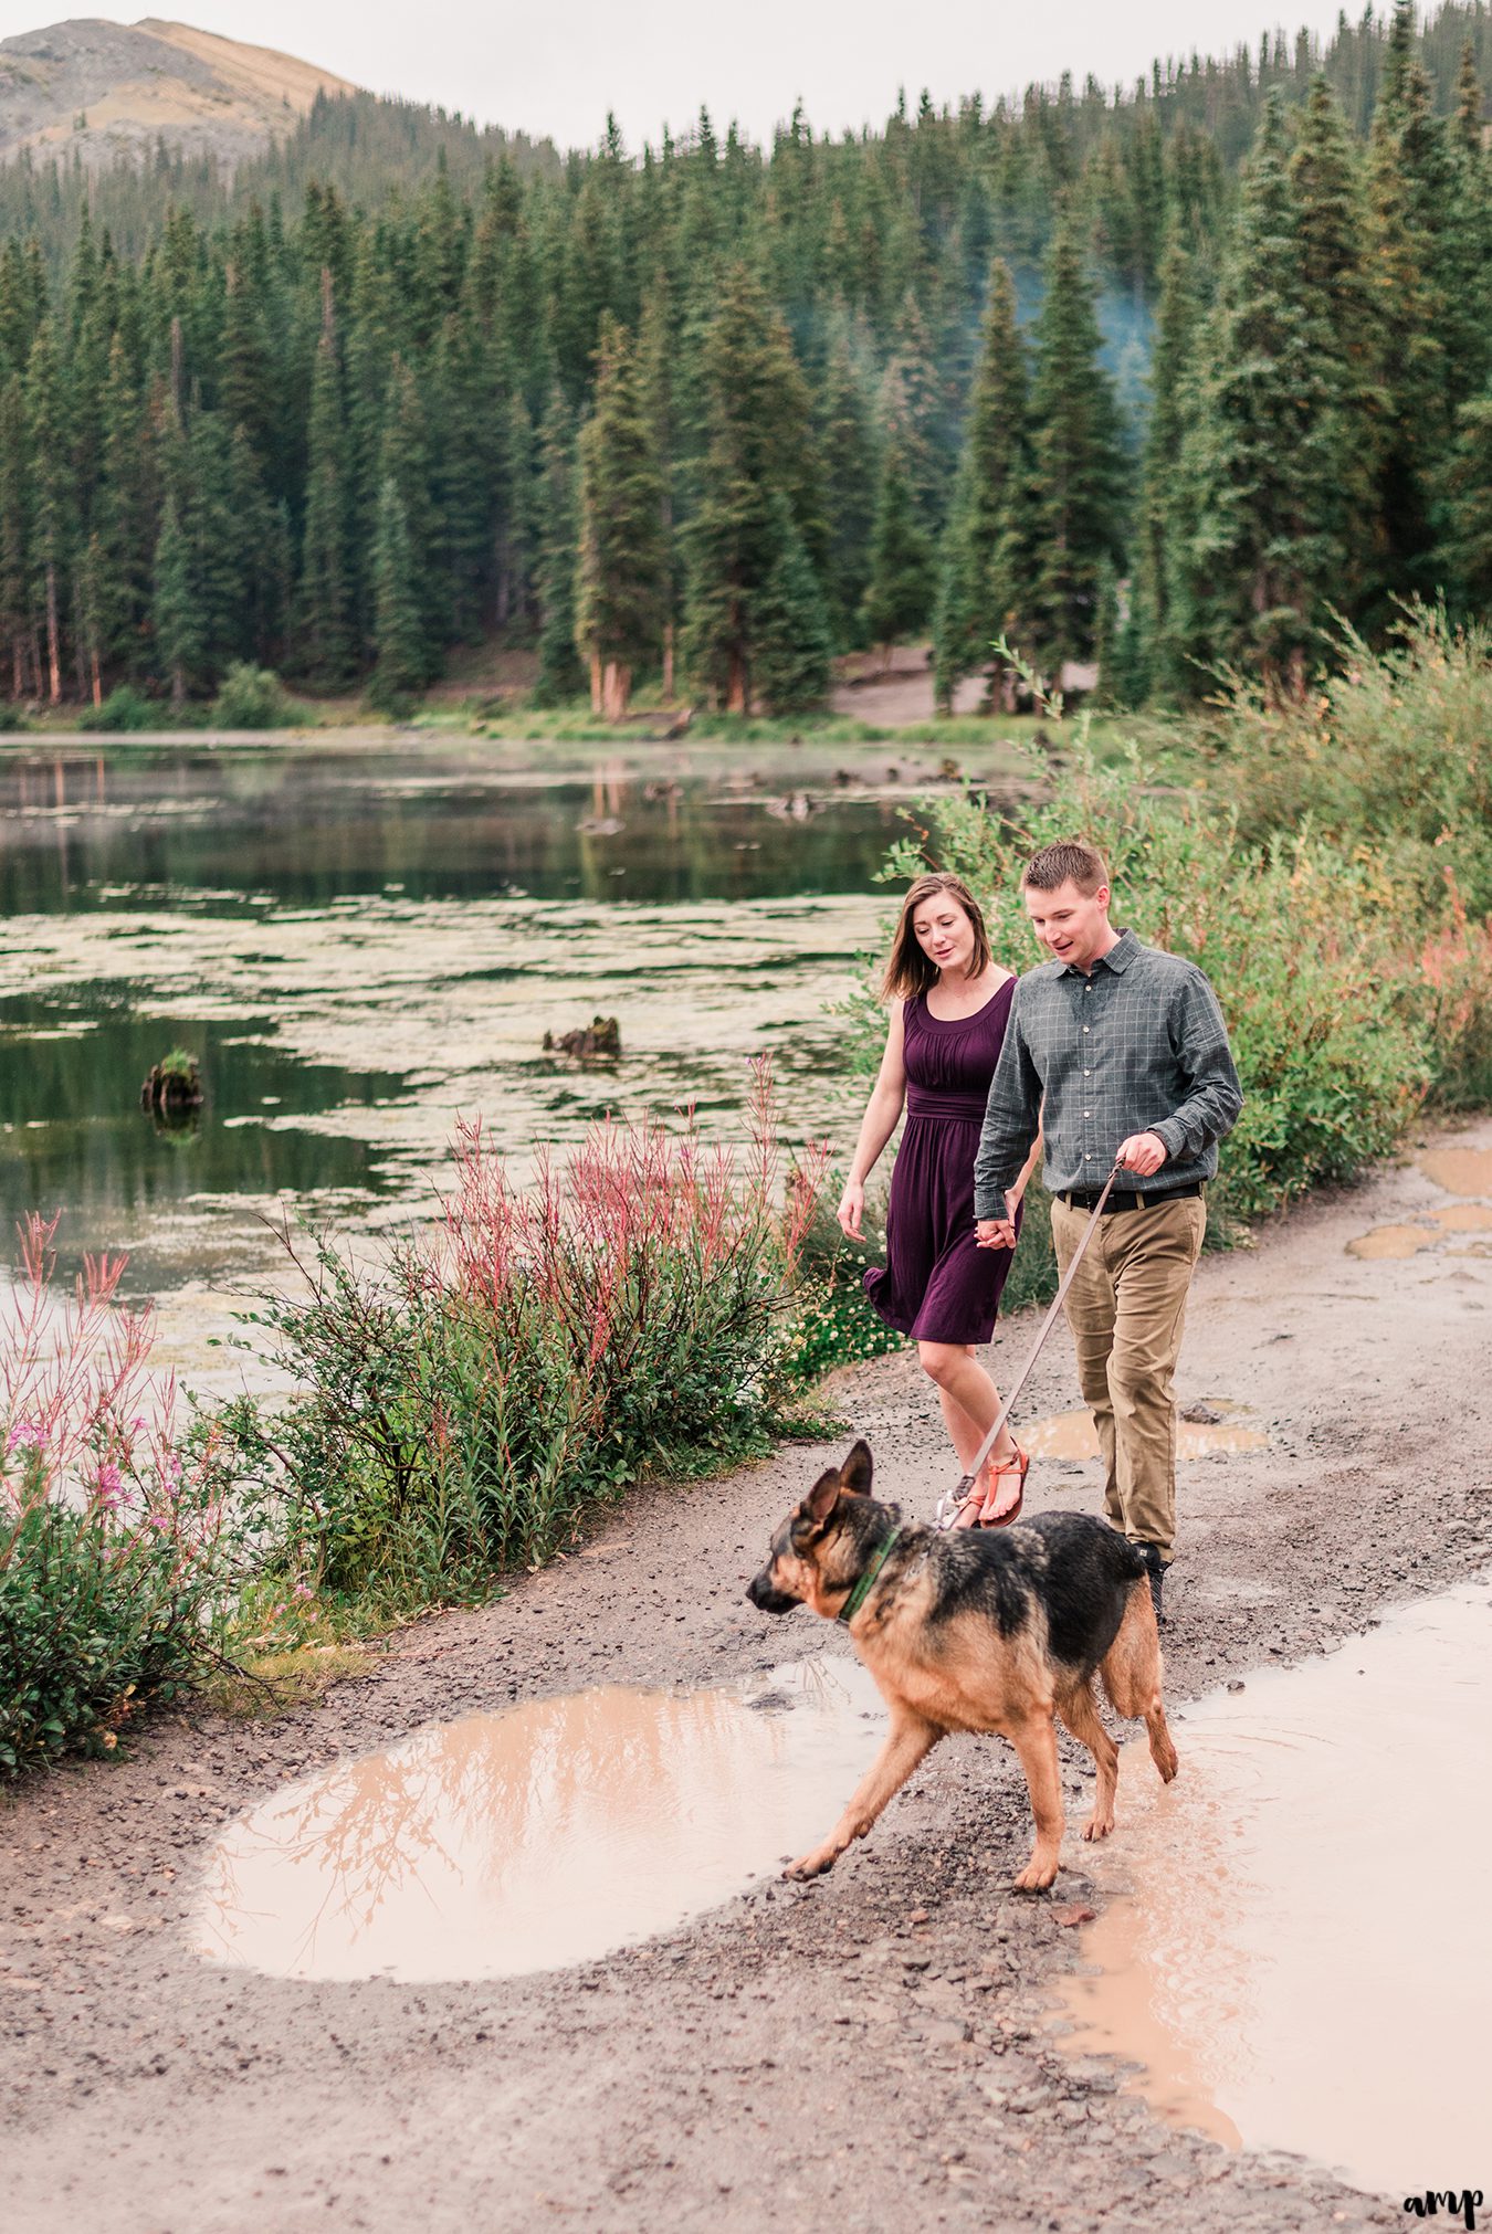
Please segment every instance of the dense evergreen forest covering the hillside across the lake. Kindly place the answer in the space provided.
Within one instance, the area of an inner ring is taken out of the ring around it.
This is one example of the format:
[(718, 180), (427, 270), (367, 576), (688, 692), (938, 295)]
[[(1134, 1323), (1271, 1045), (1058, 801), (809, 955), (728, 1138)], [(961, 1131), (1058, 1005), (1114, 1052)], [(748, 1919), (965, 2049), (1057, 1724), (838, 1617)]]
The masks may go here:
[[(1117, 94), (632, 159), (317, 101), (228, 176), (0, 172), (18, 701), (230, 666), (398, 708), (494, 634), (538, 699), (822, 701), (1099, 659), (1304, 688), (1338, 617), (1492, 599), (1485, 7)], [(1492, 60), (1492, 58), (1490, 58)]]

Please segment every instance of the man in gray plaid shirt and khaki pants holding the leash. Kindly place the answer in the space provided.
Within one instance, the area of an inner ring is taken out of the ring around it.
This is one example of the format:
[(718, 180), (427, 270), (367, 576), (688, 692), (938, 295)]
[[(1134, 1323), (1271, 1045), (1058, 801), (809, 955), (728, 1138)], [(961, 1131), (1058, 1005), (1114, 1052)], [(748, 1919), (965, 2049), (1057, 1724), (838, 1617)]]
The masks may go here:
[(1144, 1553), (1155, 1613), (1175, 1548), (1175, 1365), (1206, 1229), (1204, 1184), (1242, 1108), (1217, 996), (1195, 963), (1108, 920), (1108, 867), (1050, 844), (1021, 891), (1052, 961), (1016, 985), (974, 1164), (983, 1249), (1014, 1247), (1005, 1188), (1041, 1128), (1052, 1240), (1065, 1273), (1123, 1166), (1068, 1291), (1103, 1501)]

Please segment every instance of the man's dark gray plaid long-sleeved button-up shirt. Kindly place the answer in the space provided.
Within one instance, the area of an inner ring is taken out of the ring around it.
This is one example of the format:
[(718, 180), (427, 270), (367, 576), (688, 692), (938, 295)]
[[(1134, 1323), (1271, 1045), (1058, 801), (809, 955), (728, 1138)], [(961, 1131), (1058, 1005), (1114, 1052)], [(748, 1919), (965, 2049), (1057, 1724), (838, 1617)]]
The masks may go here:
[(1054, 1195), (1103, 1186), (1130, 1133), (1155, 1133), (1166, 1162), (1121, 1184), (1164, 1195), (1215, 1175), (1217, 1142), (1242, 1106), (1228, 1028), (1195, 963), (1141, 945), (1135, 932), (1119, 934), (1092, 976), (1043, 963), (1010, 1008), (974, 1159), (974, 1215), (1005, 1215), (1005, 1188), (1036, 1126)]

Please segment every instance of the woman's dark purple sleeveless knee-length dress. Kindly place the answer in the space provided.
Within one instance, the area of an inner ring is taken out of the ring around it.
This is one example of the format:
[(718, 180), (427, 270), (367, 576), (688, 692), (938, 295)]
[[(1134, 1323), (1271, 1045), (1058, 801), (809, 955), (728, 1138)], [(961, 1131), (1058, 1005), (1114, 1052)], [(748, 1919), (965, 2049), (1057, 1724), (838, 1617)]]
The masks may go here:
[(974, 1016), (943, 1021), (916, 994), (902, 1010), (907, 1128), (891, 1173), (887, 1264), (867, 1271), (871, 1307), (918, 1343), (987, 1343), (1010, 1249), (974, 1244), (974, 1155), (1016, 981)]

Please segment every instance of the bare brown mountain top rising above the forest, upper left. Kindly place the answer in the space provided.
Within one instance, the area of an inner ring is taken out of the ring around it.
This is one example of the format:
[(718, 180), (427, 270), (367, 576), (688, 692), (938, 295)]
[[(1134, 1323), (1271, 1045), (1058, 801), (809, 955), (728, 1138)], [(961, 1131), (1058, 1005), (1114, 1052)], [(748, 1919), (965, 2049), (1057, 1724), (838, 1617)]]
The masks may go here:
[(31, 147), (101, 165), (163, 139), (232, 168), (264, 154), (317, 92), (357, 87), (290, 54), (185, 22), (80, 16), (0, 40), (0, 161)]

